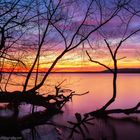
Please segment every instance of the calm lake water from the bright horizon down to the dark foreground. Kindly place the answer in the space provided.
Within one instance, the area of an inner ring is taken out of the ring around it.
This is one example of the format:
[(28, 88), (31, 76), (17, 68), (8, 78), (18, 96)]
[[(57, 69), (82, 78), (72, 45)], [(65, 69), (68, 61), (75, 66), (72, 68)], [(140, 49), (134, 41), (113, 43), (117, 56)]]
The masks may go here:
[[(43, 74), (39, 77), (41, 79)], [(5, 75), (5, 78), (7, 76)], [(33, 75), (34, 77), (34, 75)], [(20, 90), (24, 82), (23, 76), (11, 77), (10, 85), (7, 90)], [(19, 82), (20, 81), (20, 82)], [(77, 94), (89, 91), (89, 94), (84, 96), (76, 96), (73, 98), (73, 102), (68, 103), (63, 110), (63, 115), (57, 115), (54, 117), (55, 122), (63, 122), (67, 125), (67, 120), (73, 120), (75, 112), (82, 114), (96, 110), (104, 105), (112, 96), (112, 75), (111, 74), (51, 74), (48, 81), (44, 84), (41, 93), (53, 93), (54, 86), (64, 81), (62, 88), (71, 89)], [(3, 81), (4, 82), (4, 81)], [(19, 84), (18, 86), (17, 83)], [(116, 101), (110, 106), (110, 108), (129, 108), (133, 107), (140, 101), (140, 74), (119, 74), (117, 81), (117, 98)], [(33, 79), (30, 81), (29, 88), (33, 85)], [(21, 115), (28, 113), (29, 106), (22, 108)], [(98, 128), (98, 129), (97, 129)], [(101, 139), (102, 135), (110, 140), (115, 137), (117, 140), (138, 140), (140, 139), (140, 125), (132, 122), (124, 122), (121, 120), (96, 120), (92, 135), (96, 139)], [(133, 130), (133, 131), (132, 131)], [(55, 130), (52, 127), (40, 126), (38, 128), (41, 133), (41, 138), (54, 140), (57, 139), (54, 135)], [(31, 139), (28, 135), (28, 131), (24, 131), (23, 134), (27, 139)], [(65, 139), (65, 138), (64, 138)]]

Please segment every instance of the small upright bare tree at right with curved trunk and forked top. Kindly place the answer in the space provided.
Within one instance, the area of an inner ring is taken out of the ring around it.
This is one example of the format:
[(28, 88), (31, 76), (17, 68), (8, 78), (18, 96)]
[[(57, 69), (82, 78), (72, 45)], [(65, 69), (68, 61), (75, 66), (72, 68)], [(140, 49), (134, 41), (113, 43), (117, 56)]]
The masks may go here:
[[(137, 26), (136, 28), (131, 29), (131, 26), (134, 23), (133, 20), (137, 17), (137, 14), (139, 13), (139, 11), (130, 12), (130, 11), (128, 11), (128, 9), (126, 9), (126, 7), (124, 8), (124, 11), (125, 12), (127, 11), (128, 13), (126, 12), (126, 15), (123, 15), (123, 16), (118, 15), (118, 17), (120, 19), (120, 23), (118, 21), (119, 26), (115, 27), (113, 29), (110, 29), (110, 32), (111, 32), (110, 35), (109, 35), (109, 31), (108, 31), (108, 33), (103, 32), (103, 30), (99, 31), (99, 34), (102, 36), (102, 38), (104, 38), (104, 43), (105, 43), (105, 46), (107, 47), (107, 49), (109, 51), (111, 60), (113, 62), (113, 67), (108, 66), (105, 63), (102, 63), (102, 62), (100, 62), (98, 60), (93, 59), (91, 54), (88, 51), (86, 51), (86, 54), (87, 54), (87, 56), (89, 58), (89, 61), (104, 67), (105, 69), (107, 69), (109, 72), (111, 72), (113, 74), (113, 81), (112, 81), (112, 83), (113, 83), (113, 91), (112, 91), (113, 95), (110, 98), (110, 100), (103, 107), (101, 107), (101, 109), (99, 109), (99, 111), (105, 111), (116, 99), (116, 95), (117, 95), (117, 77), (118, 77), (118, 61), (126, 58), (126, 56), (118, 58), (119, 50), (121, 49), (121, 47), (123, 47), (124, 43), (126, 43), (127, 40), (135, 37), (136, 34), (138, 34), (139, 31), (140, 31), (139, 26)], [(116, 39), (115, 34), (113, 34), (113, 33), (116, 33), (117, 41), (115, 40)], [(107, 36), (109, 36), (109, 37), (107, 37)], [(107, 40), (107, 38), (108, 38), (108, 40)], [(109, 40), (112, 40), (112, 43), (111, 43), (111, 41), (109, 42)], [(115, 41), (113, 42), (113, 40), (115, 40)], [(91, 45), (91, 44), (89, 43), (89, 45)], [(134, 110), (130, 109), (131, 112), (135, 111), (135, 109), (137, 109), (138, 106), (139, 105), (137, 105), (137, 107), (134, 108)], [(115, 111), (113, 111), (113, 112), (115, 112)], [(117, 113), (118, 112), (119, 112), (119, 110), (117, 111)], [(120, 112), (123, 112), (123, 110), (120, 110)], [(94, 112), (92, 112), (92, 113), (94, 114)]]

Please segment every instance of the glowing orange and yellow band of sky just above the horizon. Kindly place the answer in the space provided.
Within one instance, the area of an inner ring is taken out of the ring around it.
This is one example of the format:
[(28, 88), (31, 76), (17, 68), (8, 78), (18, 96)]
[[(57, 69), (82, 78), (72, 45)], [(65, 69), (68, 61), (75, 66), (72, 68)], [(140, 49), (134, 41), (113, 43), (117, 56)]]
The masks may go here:
[[(139, 49), (140, 50), (140, 49)], [(61, 49), (57, 52), (44, 51), (40, 57), (39, 72), (47, 72), (55, 58), (61, 53)], [(140, 61), (135, 54), (133, 47), (122, 48), (118, 53), (118, 59), (125, 57), (125, 59), (118, 60), (118, 68), (140, 68)], [(26, 62), (26, 68), (21, 65), (17, 65), (13, 70), (13, 65), (6, 61), (4, 67), (1, 69), (3, 72), (28, 72), (35, 58), (34, 52), (29, 52), (30, 55), (23, 59)], [(91, 57), (103, 64), (106, 64), (110, 68), (113, 68), (113, 62), (106, 48), (95, 50), (89, 50)], [(49, 55), (48, 55), (49, 54)], [(104, 67), (92, 63), (89, 61), (86, 53), (81, 49), (76, 49), (66, 54), (53, 68), (52, 72), (98, 72), (106, 70)], [(33, 72), (36, 72), (36, 67)]]

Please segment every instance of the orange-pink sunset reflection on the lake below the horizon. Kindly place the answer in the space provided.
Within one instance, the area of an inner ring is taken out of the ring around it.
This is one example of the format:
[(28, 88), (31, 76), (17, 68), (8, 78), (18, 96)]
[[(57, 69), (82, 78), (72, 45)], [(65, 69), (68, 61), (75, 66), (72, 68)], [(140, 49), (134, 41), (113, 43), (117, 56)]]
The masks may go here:
[[(30, 80), (30, 86), (34, 85), (34, 76)], [(40, 74), (40, 79), (43, 74)], [(7, 76), (5, 75), (5, 78)], [(25, 81), (23, 76), (13, 75), (7, 90), (21, 90)], [(62, 88), (72, 89), (77, 94), (89, 91), (84, 96), (76, 96), (73, 102), (68, 104), (69, 111), (87, 112), (100, 108), (112, 96), (112, 74), (51, 74), (39, 90), (41, 93), (50, 94), (55, 92), (54, 86), (63, 81)], [(132, 107), (140, 101), (140, 74), (119, 74), (117, 81), (117, 98), (110, 108)], [(18, 85), (17, 85), (18, 84)], [(3, 87), (4, 88), (4, 87)]]

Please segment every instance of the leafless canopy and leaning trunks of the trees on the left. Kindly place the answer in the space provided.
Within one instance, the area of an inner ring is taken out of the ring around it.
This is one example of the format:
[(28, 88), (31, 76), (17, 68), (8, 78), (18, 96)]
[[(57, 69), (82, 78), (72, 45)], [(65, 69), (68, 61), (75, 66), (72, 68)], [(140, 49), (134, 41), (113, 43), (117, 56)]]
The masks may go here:
[[(1, 1), (1, 71), (7, 63), (13, 67), (10, 71), (19, 65), (26, 69), (28, 74), (23, 85), (25, 92), (32, 72), (36, 69), (35, 85), (30, 91), (39, 89), (67, 52), (79, 47), (90, 36), (94, 37), (94, 33), (113, 20), (128, 3), (126, 0)], [(49, 52), (52, 43), (58, 47), (54, 50), (61, 51), (51, 62), (42, 80), (37, 82), (42, 52)], [(34, 51), (34, 56), (29, 63), (26, 57), (31, 55), (31, 51)]]

